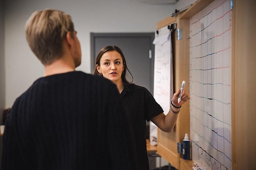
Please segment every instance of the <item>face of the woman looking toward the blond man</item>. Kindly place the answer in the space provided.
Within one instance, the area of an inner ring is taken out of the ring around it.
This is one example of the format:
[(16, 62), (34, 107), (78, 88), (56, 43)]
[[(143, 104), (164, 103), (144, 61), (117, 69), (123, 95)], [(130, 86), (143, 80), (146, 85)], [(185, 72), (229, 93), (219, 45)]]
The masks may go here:
[(122, 83), (123, 60), (119, 52), (105, 52), (101, 57), (100, 66), (97, 65), (97, 70), (104, 78), (114, 83)]

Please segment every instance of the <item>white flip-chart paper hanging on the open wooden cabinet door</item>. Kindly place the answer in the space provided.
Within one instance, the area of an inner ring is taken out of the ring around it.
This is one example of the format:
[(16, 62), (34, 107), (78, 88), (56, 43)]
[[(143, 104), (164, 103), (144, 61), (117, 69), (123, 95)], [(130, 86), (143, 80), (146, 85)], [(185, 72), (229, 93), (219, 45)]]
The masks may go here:
[(167, 115), (173, 95), (171, 33), (167, 26), (160, 28), (158, 32), (153, 42), (155, 44), (154, 98)]

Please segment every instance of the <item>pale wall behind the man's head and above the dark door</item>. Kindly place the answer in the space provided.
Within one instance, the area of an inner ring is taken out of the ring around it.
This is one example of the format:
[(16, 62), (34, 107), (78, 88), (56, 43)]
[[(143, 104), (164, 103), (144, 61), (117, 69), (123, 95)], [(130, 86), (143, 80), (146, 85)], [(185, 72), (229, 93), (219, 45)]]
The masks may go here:
[(90, 32), (152, 32), (174, 11), (174, 5), (155, 5), (139, 0), (6, 0), (5, 78), (6, 107), (12, 106), (44, 69), (27, 45), (24, 25), (32, 12), (45, 8), (69, 13), (81, 42), (82, 64), (90, 73)]

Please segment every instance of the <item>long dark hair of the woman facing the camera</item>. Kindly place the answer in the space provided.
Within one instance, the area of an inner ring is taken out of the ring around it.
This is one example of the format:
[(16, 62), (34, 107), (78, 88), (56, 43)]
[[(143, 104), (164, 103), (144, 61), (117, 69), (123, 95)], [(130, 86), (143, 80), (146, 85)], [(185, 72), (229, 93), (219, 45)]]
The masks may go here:
[[(100, 66), (100, 61), (101, 61), (101, 57), (104, 53), (108, 52), (108, 51), (116, 51), (118, 52), (121, 57), (122, 57), (122, 60), (123, 60), (123, 73), (122, 73), (122, 83), (123, 84), (132, 84), (133, 83), (133, 75), (131, 75), (131, 72), (129, 71), (127, 65), (126, 65), (126, 60), (125, 60), (125, 56), (123, 55), (123, 52), (121, 51), (120, 48), (118, 48), (117, 46), (105, 46), (104, 48), (102, 48), (98, 54), (97, 54), (97, 57), (96, 57), (96, 60), (95, 60), (95, 68), (94, 68), (94, 75), (100, 75), (98, 70), (97, 70), (97, 65)], [(131, 75), (131, 78), (132, 78), (132, 81), (131, 82), (128, 82), (127, 79), (126, 79), (126, 70), (128, 70), (128, 72), (130, 73)]]

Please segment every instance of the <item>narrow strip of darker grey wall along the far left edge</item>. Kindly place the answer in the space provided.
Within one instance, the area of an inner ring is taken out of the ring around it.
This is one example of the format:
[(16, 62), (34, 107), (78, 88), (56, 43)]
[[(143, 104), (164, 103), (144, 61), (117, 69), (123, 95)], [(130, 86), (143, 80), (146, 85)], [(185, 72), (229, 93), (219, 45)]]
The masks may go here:
[(4, 3), (0, 0), (0, 124), (5, 109), (5, 46), (4, 46)]

